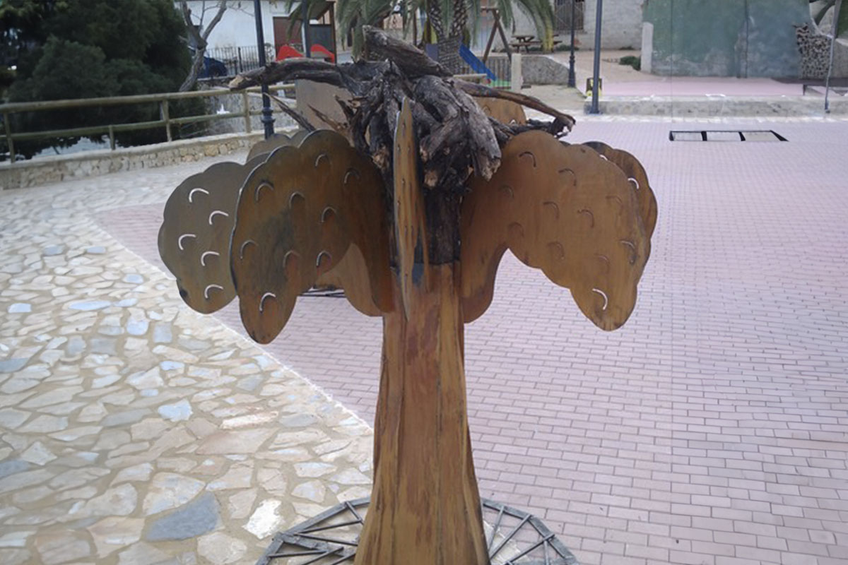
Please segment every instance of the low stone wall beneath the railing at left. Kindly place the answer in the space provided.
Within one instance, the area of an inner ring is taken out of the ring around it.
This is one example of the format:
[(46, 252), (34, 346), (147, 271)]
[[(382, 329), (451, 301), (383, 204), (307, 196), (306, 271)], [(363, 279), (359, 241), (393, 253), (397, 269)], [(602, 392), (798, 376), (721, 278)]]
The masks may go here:
[(247, 149), (260, 139), (262, 134), (256, 131), (248, 135), (227, 134), (128, 147), (116, 151), (105, 149), (17, 163), (0, 163), (0, 190), (197, 161), (204, 157), (227, 155)]

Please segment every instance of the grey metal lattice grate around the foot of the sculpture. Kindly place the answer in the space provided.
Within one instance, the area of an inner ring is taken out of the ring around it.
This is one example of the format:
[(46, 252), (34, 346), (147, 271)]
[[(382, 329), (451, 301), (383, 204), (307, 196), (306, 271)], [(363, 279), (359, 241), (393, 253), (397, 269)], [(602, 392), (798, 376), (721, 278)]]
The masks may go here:
[[(353, 562), (369, 501), (343, 502), (274, 535), (256, 565)], [(483, 520), (493, 565), (577, 565), (577, 557), (532, 514), (483, 499)]]

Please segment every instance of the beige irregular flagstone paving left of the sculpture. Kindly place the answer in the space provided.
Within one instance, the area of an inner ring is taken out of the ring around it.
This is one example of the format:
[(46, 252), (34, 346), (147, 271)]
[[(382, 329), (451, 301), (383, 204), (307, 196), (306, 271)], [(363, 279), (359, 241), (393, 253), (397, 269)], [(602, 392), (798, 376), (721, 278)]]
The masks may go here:
[(94, 216), (209, 163), (0, 192), (0, 563), (250, 563), (370, 490), (371, 430)]

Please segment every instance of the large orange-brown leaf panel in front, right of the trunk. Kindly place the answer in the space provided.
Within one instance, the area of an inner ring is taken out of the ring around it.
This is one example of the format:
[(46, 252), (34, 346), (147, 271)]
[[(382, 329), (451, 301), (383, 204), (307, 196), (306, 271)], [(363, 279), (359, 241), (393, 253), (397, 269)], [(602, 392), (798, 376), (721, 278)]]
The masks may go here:
[(542, 131), (515, 136), (488, 182), (475, 178), (462, 208), (462, 296), (466, 321), (485, 312), (509, 248), (572, 291), (603, 330), (628, 319), (650, 252), (635, 189), (590, 147)]

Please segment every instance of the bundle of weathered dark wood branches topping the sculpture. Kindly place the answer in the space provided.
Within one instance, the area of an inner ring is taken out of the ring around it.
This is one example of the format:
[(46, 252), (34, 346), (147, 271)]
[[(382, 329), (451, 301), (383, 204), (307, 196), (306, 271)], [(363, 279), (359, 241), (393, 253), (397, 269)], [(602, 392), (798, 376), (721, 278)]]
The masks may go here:
[[(499, 168), (501, 147), (522, 131), (544, 130), (561, 136), (574, 119), (536, 98), (498, 91), (450, 76), (449, 72), (420, 49), (365, 28), (368, 57), (354, 64), (329, 64), (299, 58), (266, 65), (232, 80), (232, 89), (283, 80), (314, 80), (349, 91), (354, 104), (343, 105), (346, 135), (354, 147), (371, 156), (393, 192), (393, 137), (400, 104), (410, 97), (410, 111), (418, 140), (423, 185), (427, 187), (428, 216), (444, 216), (448, 206), (458, 206), (471, 174), (491, 178)], [(373, 60), (379, 59), (379, 60)], [(472, 98), (490, 97), (517, 102), (554, 118), (552, 122), (529, 120), (527, 124), (503, 124), (490, 119)], [(451, 212), (452, 213), (452, 212)], [(438, 256), (444, 249), (431, 251)]]

